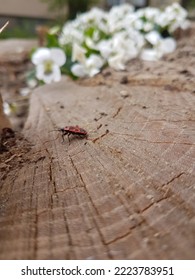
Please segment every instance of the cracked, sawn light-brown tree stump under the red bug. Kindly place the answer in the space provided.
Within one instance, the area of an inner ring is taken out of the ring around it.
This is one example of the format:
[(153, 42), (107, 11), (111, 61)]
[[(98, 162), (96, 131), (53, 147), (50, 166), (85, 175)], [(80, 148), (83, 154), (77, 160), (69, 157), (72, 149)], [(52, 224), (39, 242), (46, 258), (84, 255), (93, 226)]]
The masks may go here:
[(195, 258), (194, 43), (35, 90), (1, 166), (1, 259)]

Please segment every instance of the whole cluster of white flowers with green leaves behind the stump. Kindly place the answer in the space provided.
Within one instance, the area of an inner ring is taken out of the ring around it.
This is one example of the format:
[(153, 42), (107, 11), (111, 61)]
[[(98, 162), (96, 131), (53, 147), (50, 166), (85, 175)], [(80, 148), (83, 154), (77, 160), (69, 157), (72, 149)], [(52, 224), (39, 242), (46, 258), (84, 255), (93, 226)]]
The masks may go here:
[(59, 36), (49, 33), (48, 48), (38, 49), (32, 62), (37, 65), (37, 78), (46, 83), (60, 79), (62, 65), (62, 72), (73, 77), (93, 77), (107, 65), (124, 70), (136, 57), (162, 58), (176, 48), (174, 32), (188, 27), (187, 11), (178, 3), (164, 10), (135, 11), (129, 4), (109, 12), (93, 8), (67, 22)]

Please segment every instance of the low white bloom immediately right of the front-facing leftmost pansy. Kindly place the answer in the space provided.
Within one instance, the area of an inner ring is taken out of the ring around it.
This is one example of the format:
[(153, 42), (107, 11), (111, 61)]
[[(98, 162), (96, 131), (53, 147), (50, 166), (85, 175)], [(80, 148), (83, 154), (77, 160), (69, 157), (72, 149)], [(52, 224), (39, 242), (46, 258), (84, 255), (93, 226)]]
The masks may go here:
[(72, 66), (71, 71), (77, 77), (93, 77), (98, 74), (104, 65), (104, 59), (92, 54), (89, 58), (86, 58), (84, 63), (76, 63)]

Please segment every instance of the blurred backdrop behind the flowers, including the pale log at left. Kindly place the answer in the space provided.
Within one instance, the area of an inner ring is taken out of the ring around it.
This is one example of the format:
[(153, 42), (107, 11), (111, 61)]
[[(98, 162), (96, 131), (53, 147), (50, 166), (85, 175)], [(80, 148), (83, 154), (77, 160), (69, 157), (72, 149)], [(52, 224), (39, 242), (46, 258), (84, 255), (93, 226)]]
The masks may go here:
[(109, 10), (114, 5), (133, 4), (136, 9), (164, 7), (179, 2), (195, 18), (195, 0), (0, 0), (0, 95), (4, 112), (12, 126), (21, 130), (28, 115), (29, 96), (35, 85), (29, 84), (33, 70), (32, 49), (41, 45), (48, 27), (63, 25), (78, 13), (96, 6)]

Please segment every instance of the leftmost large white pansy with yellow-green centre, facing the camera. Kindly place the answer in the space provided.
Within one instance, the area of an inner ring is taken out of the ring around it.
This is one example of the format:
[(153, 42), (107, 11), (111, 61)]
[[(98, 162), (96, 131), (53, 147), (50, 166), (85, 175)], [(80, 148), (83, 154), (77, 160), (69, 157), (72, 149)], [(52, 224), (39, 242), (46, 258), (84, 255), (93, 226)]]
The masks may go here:
[(60, 66), (66, 62), (66, 55), (59, 48), (39, 48), (32, 55), (32, 62), (36, 65), (37, 79), (49, 84), (60, 81)]

